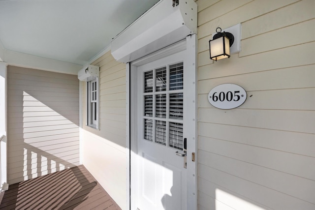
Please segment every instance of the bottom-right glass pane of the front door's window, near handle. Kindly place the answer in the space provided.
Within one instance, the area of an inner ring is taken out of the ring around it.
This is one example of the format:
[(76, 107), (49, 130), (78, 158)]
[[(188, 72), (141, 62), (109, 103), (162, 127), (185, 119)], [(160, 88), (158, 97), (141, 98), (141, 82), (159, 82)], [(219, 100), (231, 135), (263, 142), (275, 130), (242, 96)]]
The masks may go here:
[(183, 124), (169, 123), (169, 146), (178, 150), (183, 150)]

